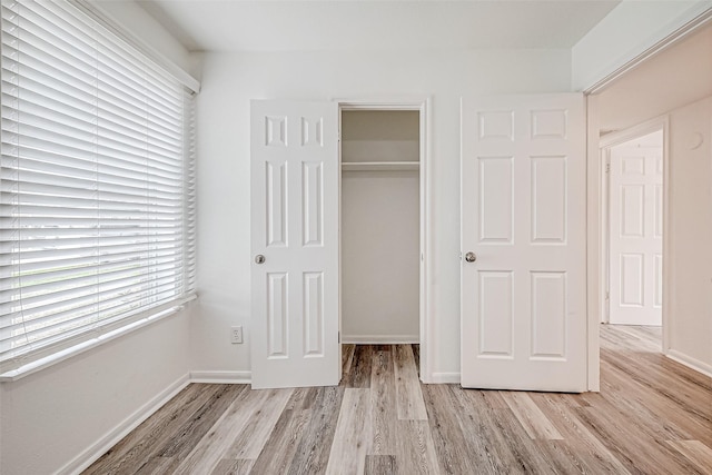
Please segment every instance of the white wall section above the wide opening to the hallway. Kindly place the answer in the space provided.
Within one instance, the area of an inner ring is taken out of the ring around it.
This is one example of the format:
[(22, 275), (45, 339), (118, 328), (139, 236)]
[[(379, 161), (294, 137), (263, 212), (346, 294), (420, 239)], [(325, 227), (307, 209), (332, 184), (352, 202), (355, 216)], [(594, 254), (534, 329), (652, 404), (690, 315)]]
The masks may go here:
[(709, 8), (710, 0), (623, 0), (572, 48), (574, 90), (590, 88)]

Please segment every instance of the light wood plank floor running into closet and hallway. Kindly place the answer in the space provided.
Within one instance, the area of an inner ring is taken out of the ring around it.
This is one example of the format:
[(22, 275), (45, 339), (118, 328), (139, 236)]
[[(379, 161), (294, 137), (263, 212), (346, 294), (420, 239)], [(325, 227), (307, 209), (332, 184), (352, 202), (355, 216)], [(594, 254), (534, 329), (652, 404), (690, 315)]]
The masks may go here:
[(712, 474), (712, 378), (602, 327), (600, 394), (423, 385), (417, 346), (347, 346), (339, 387), (192, 384), (87, 474)]

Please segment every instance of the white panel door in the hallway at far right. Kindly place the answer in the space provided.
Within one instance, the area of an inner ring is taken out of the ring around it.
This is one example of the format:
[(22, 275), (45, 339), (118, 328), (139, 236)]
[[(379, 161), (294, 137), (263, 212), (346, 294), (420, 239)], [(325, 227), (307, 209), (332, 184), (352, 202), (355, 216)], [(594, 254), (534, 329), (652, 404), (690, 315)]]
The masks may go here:
[(610, 180), (609, 321), (662, 325), (662, 142), (613, 147)]

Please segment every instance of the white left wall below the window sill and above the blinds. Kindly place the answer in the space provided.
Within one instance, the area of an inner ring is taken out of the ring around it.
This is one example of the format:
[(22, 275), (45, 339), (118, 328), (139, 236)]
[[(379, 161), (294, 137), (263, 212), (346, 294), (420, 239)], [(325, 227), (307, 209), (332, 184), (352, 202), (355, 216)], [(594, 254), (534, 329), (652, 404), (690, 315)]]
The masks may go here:
[[(132, 2), (108, 2), (171, 60), (188, 52)], [(0, 473), (49, 474), (86, 461), (189, 372), (188, 310), (13, 383), (0, 383)], [(89, 451), (89, 452), (86, 452)]]

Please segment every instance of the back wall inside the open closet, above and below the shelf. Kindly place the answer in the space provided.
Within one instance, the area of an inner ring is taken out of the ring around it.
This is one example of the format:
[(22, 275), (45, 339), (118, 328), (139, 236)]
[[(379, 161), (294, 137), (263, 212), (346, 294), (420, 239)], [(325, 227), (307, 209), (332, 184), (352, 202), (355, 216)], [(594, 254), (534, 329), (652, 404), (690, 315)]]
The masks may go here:
[[(342, 112), (342, 161), (418, 161), (418, 111)], [(419, 342), (418, 170), (342, 174), (342, 342)]]

